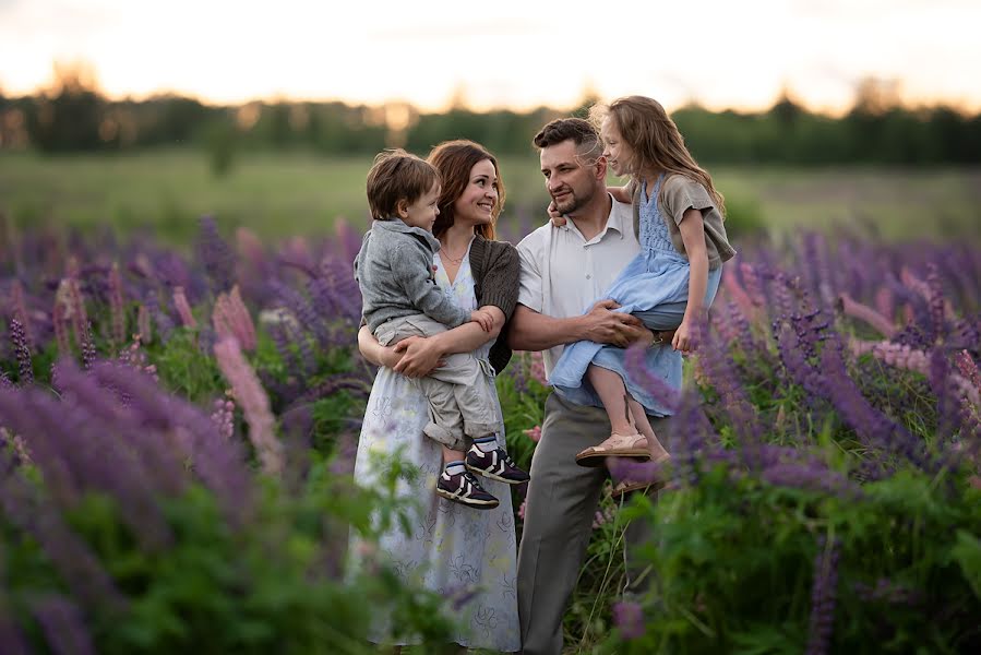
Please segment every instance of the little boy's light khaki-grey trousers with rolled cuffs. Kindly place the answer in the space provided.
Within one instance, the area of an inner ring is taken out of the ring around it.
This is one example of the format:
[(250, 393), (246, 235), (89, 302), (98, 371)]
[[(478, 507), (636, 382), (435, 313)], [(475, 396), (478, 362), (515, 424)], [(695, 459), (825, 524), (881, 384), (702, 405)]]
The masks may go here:
[[(392, 319), (379, 325), (374, 336), (383, 346), (409, 336), (433, 336), (446, 326), (426, 314)], [(455, 451), (466, 450), (469, 440), (500, 431), (498, 406), (491, 385), (490, 362), (472, 353), (456, 353), (443, 358), (444, 366), (426, 378), (412, 379), (429, 404), (429, 422), (423, 433)]]

